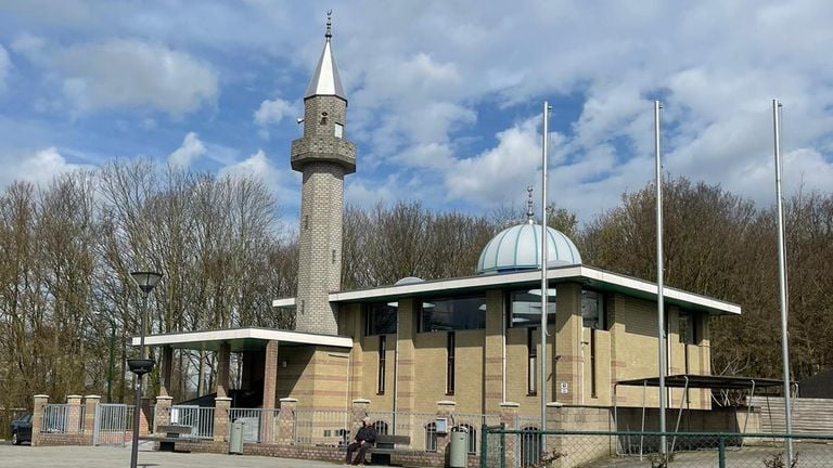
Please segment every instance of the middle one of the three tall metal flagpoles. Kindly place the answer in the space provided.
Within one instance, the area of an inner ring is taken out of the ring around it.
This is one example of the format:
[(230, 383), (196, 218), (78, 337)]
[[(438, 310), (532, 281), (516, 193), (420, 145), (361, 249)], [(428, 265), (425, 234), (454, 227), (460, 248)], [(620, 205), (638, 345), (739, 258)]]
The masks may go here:
[(654, 101), (654, 150), (656, 152), (656, 316), (659, 337), (659, 453), (665, 455), (665, 296), (663, 294), (663, 165), (659, 154), (659, 101)]

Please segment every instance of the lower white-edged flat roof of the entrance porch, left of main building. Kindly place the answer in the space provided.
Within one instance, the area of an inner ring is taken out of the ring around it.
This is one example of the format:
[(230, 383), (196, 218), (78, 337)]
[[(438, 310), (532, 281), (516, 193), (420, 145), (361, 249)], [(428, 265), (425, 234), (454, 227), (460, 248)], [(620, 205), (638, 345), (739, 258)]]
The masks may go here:
[[(353, 348), (353, 338), (333, 335), (318, 335), (302, 332), (269, 328), (232, 328), (203, 332), (182, 332), (144, 337), (145, 346), (169, 346), (177, 349), (218, 351), (221, 343), (229, 343), (232, 352), (258, 351), (268, 341), (280, 341), (280, 346), (321, 344), (336, 348)], [(139, 346), (139, 337), (131, 340)]]

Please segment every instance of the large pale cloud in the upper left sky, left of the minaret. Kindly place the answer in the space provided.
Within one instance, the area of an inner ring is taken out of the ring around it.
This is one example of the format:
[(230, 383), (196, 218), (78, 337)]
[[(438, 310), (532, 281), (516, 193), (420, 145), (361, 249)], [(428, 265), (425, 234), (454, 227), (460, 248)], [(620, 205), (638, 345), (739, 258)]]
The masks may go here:
[(71, 46), (52, 66), (80, 110), (149, 106), (180, 116), (217, 96), (217, 74), (191, 55), (129, 39)]

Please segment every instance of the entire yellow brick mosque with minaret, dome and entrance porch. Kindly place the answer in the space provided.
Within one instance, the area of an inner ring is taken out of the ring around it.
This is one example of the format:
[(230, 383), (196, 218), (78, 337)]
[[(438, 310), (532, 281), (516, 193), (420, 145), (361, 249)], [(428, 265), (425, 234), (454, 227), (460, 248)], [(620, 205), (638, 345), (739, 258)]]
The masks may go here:
[[(217, 352), (217, 407), (292, 403), (297, 411), (325, 412), (351, 411), (360, 402), (392, 432), (401, 427), (395, 415), (413, 420), (435, 414), (438, 404), (486, 417), (511, 403), (529, 420), (540, 415), (542, 400), (576, 408), (657, 406), (656, 392), (643, 400), (641, 388), (619, 389), (614, 401), (615, 384), (657, 375), (656, 284), (584, 264), (575, 244), (551, 227), (547, 294), (554, 297), (541, 346), (542, 230), (531, 202), (526, 222), (483, 247), (473, 276), (406, 277), (343, 290), (342, 268), (349, 268), (342, 262), (344, 179), (357, 170), (357, 156), (329, 22), (304, 107), (303, 136), (292, 142), (290, 158), (303, 174), (297, 295), (272, 304), (294, 309), (296, 328), (146, 337), (148, 346), (162, 348), (163, 398), (169, 394), (172, 350), (191, 349)], [(668, 374), (709, 375), (709, 318), (740, 314), (740, 307), (665, 288), (665, 310)], [(232, 353), (242, 362), (233, 384)], [(681, 403), (681, 391), (670, 395), (670, 406)], [(690, 390), (685, 404), (708, 410), (710, 399), (708, 390)], [(432, 424), (426, 417), (411, 430)], [(431, 441), (415, 434), (411, 445), (431, 450)]]

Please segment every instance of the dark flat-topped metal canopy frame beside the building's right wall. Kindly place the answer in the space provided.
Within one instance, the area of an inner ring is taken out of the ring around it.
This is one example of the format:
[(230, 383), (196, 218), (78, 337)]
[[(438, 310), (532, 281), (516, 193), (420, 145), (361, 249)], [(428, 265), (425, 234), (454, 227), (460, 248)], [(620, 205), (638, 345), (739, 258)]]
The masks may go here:
[[(678, 374), (672, 376), (665, 376), (664, 379), (665, 388), (681, 388), (683, 389), (683, 392), (688, 394), (689, 389), (709, 389), (709, 390), (748, 390), (749, 394), (747, 396), (747, 401), (752, 402), (752, 398), (755, 395), (755, 389), (757, 388), (771, 388), (771, 387), (782, 387), (784, 384), (782, 380), (778, 379), (770, 379), (770, 378), (755, 378), (755, 377), (736, 377), (736, 376), (704, 376), (704, 375), (693, 375), (693, 374)], [(646, 411), (646, 394), (648, 394), (648, 388), (649, 387), (659, 387), (659, 377), (643, 377), (643, 378), (637, 378), (637, 379), (630, 379), (630, 380), (621, 380), (613, 386), (613, 424), (614, 427), (618, 428), (618, 405), (617, 405), (617, 395), (616, 390), (618, 386), (626, 386), (626, 387), (642, 387), (642, 425), (640, 432), (645, 432), (645, 411)], [(796, 382), (792, 382), (792, 386), (797, 387)], [(688, 398), (685, 399), (685, 403), (688, 405)], [(668, 410), (671, 410), (670, 407)], [(674, 428), (674, 432), (679, 432), (680, 430), (680, 420), (682, 419), (682, 401), (680, 401), (680, 407), (677, 412), (677, 424)], [(746, 405), (746, 416), (743, 420), (743, 431), (746, 432), (746, 424), (749, 420), (749, 412), (752, 411), (752, 405)], [(674, 446), (676, 443), (676, 438), (671, 442), (671, 450), (670, 452), (674, 453)], [(644, 445), (644, 435), (640, 435), (639, 441), (639, 456), (640, 459), (642, 458), (643, 453), (643, 445)], [(743, 446), (743, 441), (741, 442), (741, 446)], [(616, 454), (621, 455), (618, 448), (618, 445), (616, 446)]]

